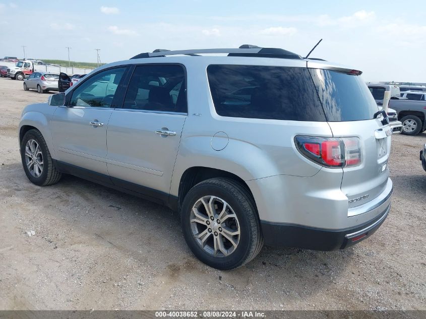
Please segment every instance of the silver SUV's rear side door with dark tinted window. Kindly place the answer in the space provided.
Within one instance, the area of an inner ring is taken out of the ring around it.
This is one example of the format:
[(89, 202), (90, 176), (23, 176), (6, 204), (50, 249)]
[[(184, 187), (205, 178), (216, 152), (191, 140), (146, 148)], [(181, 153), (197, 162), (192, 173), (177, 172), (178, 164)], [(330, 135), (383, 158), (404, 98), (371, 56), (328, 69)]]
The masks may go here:
[(123, 108), (114, 109), (108, 123), (107, 168), (117, 186), (168, 200), (187, 117), (185, 77), (181, 65), (134, 68)]

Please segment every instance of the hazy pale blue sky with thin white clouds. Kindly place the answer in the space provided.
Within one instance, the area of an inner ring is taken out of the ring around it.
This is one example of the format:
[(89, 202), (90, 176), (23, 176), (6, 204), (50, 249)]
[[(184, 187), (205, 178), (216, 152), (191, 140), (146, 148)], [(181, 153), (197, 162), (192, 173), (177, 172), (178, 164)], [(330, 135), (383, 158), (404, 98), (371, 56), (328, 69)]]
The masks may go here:
[[(361, 70), (366, 81), (426, 82), (424, 0), (3, 1), (0, 56), (102, 62), (154, 49), (280, 47)], [(416, 9), (418, 8), (418, 10)]]

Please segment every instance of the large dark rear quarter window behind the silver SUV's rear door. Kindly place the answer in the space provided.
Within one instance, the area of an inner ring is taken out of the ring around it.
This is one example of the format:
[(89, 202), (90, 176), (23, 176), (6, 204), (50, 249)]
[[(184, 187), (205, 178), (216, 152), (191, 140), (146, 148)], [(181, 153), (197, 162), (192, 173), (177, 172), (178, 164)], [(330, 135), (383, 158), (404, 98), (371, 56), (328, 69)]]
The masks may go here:
[(207, 75), (219, 115), (326, 120), (306, 68), (210, 65)]

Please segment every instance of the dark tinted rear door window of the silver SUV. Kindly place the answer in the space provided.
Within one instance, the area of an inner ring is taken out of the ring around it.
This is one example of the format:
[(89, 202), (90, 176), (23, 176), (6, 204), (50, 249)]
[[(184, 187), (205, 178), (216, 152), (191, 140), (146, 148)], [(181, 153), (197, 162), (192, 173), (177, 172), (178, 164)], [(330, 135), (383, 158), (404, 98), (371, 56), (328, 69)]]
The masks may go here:
[(186, 113), (184, 68), (177, 65), (136, 67), (123, 108)]

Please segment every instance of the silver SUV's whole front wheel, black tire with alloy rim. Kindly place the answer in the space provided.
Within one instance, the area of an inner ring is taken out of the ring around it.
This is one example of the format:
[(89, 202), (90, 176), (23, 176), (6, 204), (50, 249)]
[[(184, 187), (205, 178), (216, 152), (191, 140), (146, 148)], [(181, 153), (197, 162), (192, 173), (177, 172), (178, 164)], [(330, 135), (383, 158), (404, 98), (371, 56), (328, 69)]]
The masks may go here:
[(21, 141), (21, 160), (25, 174), (36, 185), (52, 185), (62, 177), (53, 164), (46, 141), (37, 130), (25, 133)]

